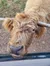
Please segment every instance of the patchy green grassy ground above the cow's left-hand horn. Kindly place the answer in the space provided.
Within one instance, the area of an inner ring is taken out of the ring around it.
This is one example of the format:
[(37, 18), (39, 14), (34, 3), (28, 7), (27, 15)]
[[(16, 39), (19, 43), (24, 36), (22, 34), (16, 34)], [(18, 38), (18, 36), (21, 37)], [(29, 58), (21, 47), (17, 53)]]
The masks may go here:
[(0, 17), (13, 17), (23, 11), (26, 0), (0, 0)]

